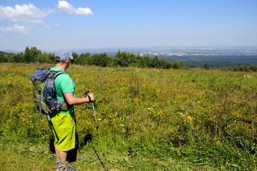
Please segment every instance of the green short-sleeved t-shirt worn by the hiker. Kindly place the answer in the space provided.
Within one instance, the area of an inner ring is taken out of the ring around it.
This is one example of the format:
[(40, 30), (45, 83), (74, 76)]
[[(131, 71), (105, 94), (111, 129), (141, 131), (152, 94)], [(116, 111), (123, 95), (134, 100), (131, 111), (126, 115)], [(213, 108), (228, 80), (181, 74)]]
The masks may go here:
[[(51, 70), (63, 71), (63, 69), (58, 68), (56, 66), (51, 68)], [(73, 82), (73, 80), (70, 78), (70, 76), (67, 73), (62, 73), (61, 75), (57, 76), (54, 83), (56, 85), (57, 100), (59, 100), (59, 101), (64, 100), (64, 102), (67, 103), (67, 101), (64, 98), (63, 93), (71, 93), (72, 92), (73, 97), (76, 96), (75, 83)], [(69, 108), (68, 110), (60, 111), (60, 113), (73, 113), (73, 107)]]

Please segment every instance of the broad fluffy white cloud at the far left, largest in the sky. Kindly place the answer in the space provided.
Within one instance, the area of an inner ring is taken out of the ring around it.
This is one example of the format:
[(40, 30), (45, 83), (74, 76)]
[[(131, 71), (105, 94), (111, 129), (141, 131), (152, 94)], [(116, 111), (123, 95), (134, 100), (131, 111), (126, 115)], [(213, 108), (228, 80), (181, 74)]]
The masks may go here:
[(33, 4), (16, 5), (14, 8), (11, 6), (0, 6), (0, 21), (7, 20), (12, 22), (42, 24), (42, 18), (53, 13), (53, 11), (54, 9), (44, 9), (41, 11), (41, 9), (36, 8)]

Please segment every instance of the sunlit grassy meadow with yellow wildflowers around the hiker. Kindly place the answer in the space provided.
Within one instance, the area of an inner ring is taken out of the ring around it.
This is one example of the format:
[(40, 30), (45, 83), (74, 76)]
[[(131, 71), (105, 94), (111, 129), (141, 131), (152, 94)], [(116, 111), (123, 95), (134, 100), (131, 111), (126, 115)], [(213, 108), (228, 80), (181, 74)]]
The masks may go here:
[[(29, 81), (36, 68), (51, 67), (0, 64), (0, 170), (56, 170), (48, 122), (35, 113)], [(77, 97), (95, 93), (110, 170), (257, 170), (257, 73), (75, 65), (67, 71)], [(80, 170), (103, 170), (93, 113), (91, 104), (75, 106)]]

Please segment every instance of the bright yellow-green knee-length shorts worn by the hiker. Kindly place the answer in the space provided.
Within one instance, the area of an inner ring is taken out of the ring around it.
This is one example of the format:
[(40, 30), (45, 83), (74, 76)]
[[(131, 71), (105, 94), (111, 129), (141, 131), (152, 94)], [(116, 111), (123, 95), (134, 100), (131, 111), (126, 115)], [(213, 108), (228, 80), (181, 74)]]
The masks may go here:
[(75, 118), (73, 113), (53, 113), (48, 121), (53, 133), (53, 142), (58, 150), (68, 151), (75, 148)]

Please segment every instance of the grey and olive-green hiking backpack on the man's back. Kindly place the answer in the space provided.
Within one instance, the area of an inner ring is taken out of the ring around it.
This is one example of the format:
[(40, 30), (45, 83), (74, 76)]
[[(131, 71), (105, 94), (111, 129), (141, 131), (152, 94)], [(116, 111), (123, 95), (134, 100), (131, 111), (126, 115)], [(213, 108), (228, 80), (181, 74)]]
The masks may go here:
[(31, 76), (31, 83), (33, 84), (33, 100), (36, 108), (41, 113), (47, 115), (48, 120), (51, 120), (50, 114), (58, 110), (68, 110), (71, 105), (58, 101), (56, 98), (56, 86), (54, 80), (57, 76), (65, 71), (51, 71), (50, 69), (38, 68)]

